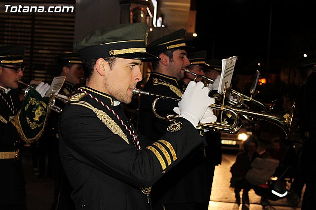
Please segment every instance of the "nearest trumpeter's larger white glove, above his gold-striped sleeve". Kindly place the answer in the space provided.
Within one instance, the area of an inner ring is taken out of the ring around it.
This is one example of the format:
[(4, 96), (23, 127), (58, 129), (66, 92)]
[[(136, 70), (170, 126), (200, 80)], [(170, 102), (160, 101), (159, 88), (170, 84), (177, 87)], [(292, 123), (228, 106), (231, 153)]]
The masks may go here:
[(206, 108), (215, 103), (215, 99), (208, 97), (208, 92), (203, 82), (191, 81), (178, 104), (180, 117), (189, 120), (194, 127), (197, 127)]

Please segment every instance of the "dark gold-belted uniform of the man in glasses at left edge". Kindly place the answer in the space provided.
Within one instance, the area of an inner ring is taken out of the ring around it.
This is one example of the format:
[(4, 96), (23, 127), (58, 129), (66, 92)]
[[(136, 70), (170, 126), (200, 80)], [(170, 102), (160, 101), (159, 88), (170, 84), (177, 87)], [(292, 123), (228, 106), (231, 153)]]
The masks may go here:
[(19, 148), (20, 136), (9, 122), (20, 106), (16, 90), (5, 93), (0, 87), (0, 205), (23, 205), (25, 202), (22, 164), (12, 157)]

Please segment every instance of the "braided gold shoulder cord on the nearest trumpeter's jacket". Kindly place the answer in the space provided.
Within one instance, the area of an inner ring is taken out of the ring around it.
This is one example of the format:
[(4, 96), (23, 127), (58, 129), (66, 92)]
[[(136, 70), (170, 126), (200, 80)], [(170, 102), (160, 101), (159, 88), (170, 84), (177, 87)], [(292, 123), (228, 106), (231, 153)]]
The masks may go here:
[(118, 136), (120, 136), (123, 140), (125, 140), (126, 143), (129, 144), (129, 141), (126, 137), (126, 135), (123, 133), (123, 131), (120, 129), (120, 127), (118, 126), (118, 124), (116, 122), (114, 122), (114, 120), (104, 111), (97, 109), (95, 107), (93, 107), (92, 105), (90, 105), (87, 102), (75, 102), (75, 103), (71, 103), (71, 105), (82, 105), (84, 107), (87, 107), (89, 109), (91, 109), (96, 116), (114, 133), (117, 134)]

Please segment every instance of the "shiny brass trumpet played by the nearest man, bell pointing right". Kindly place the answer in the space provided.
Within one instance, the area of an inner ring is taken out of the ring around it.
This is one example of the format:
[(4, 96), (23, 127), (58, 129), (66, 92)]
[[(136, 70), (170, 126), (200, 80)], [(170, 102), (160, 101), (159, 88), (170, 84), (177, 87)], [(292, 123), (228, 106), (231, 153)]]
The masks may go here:
[[(152, 94), (146, 91), (138, 90), (136, 88), (134, 88), (132, 92), (133, 94), (142, 94), (142, 95), (157, 97), (152, 104), (152, 110), (153, 110), (154, 115), (158, 117), (159, 119), (167, 120), (169, 122), (174, 122), (179, 118), (179, 115), (176, 115), (176, 114), (168, 114), (165, 117), (160, 116), (156, 111), (156, 104), (159, 99), (170, 99), (174, 101), (181, 101), (180, 99)], [(262, 119), (262, 120), (276, 124), (284, 131), (286, 138), (288, 138), (291, 124), (292, 124), (292, 119), (293, 119), (294, 107), (295, 107), (295, 103), (292, 105), (290, 109), (285, 110), (284, 113), (278, 114), (278, 113), (268, 113), (266, 111), (252, 111), (249, 109), (242, 109), (242, 108), (233, 107), (233, 106), (227, 106), (227, 105), (223, 106), (223, 105), (213, 104), (213, 105), (209, 105), (209, 108), (230, 112), (230, 114), (234, 118), (234, 123), (229, 124), (227, 121), (224, 120), (221, 122), (199, 123), (199, 126), (201, 126), (205, 130), (211, 130), (215, 132), (228, 133), (228, 134), (237, 134), (239, 129), (241, 128), (241, 124), (239, 124), (238, 115), (244, 115), (248, 117)]]

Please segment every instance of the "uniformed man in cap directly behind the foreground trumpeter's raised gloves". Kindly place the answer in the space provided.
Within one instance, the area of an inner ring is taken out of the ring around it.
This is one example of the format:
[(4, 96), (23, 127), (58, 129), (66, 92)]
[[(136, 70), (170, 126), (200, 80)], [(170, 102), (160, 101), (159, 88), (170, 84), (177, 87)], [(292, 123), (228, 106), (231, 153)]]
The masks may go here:
[[(181, 29), (162, 36), (147, 46), (147, 51), (159, 57), (160, 60), (152, 62), (153, 71), (144, 91), (177, 99), (183, 97), (180, 82), (184, 78), (185, 69), (190, 65), (187, 49), (192, 48), (186, 45), (185, 40), (185, 30)], [(154, 100), (155, 97), (141, 97), (139, 121), (140, 132), (151, 138), (153, 142), (161, 138), (166, 133), (166, 128), (170, 126), (170, 122), (158, 119), (154, 115), (152, 111)], [(197, 101), (197, 103), (199, 102)], [(156, 111), (159, 115), (165, 116), (174, 113), (173, 110), (176, 106), (176, 101), (160, 100), (157, 103)], [(178, 112), (177, 108), (175, 111)], [(209, 122), (216, 120), (212, 110), (208, 110), (208, 113), (210, 113), (209, 119), (211, 119)], [(155, 183), (152, 189), (153, 209), (207, 210), (210, 194), (207, 183), (205, 145), (200, 145), (170, 173)]]

